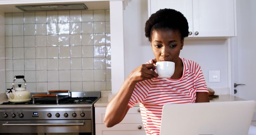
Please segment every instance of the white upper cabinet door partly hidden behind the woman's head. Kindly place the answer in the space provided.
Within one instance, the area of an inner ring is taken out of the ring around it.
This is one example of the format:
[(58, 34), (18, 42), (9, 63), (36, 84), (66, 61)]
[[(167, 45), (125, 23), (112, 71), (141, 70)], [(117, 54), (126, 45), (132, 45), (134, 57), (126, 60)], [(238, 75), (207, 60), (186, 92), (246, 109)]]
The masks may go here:
[[(181, 12), (188, 20), (188, 30), (193, 33), (192, 0), (148, 0), (150, 4), (149, 16), (159, 9), (172, 8)], [(189, 35), (189, 36), (193, 36)]]

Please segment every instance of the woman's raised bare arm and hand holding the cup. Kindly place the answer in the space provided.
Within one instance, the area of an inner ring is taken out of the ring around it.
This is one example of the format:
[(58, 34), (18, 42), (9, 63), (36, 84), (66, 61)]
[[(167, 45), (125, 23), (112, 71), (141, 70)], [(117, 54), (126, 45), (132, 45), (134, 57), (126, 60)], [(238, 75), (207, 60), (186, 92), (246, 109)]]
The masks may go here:
[(150, 69), (155, 69), (153, 64), (143, 64), (125, 79), (120, 90), (111, 99), (106, 108), (104, 123), (106, 127), (113, 127), (120, 123), (129, 110), (128, 102), (132, 96), (137, 82), (157, 77), (158, 74)]

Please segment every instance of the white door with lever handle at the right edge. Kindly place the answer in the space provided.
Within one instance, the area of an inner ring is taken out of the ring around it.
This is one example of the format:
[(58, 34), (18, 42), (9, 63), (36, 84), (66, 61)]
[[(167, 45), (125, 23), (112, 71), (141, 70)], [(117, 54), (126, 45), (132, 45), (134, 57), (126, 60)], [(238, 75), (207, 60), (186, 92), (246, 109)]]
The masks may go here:
[(231, 44), (238, 97), (256, 100), (256, 0), (237, 0), (237, 37)]

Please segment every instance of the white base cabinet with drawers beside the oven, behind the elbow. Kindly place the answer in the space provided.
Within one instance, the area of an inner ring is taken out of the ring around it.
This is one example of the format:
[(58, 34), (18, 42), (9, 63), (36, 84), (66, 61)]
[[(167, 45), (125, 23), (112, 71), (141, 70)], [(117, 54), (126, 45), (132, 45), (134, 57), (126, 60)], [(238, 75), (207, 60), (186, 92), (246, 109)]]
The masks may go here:
[(124, 119), (114, 127), (104, 125), (106, 107), (95, 107), (95, 131), (96, 135), (146, 135), (142, 125), (139, 107), (132, 107)]

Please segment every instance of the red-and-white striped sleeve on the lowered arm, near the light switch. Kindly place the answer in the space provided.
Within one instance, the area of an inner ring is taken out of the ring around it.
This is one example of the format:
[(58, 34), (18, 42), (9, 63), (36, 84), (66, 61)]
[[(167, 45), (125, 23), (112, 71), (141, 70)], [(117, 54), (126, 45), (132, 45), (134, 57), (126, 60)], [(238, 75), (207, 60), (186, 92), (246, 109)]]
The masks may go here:
[(201, 67), (196, 64), (196, 69), (195, 69), (195, 74), (196, 74), (196, 92), (207, 92), (209, 93), (207, 87), (206, 87), (206, 81), (204, 79), (204, 75), (202, 73)]

